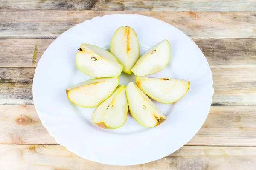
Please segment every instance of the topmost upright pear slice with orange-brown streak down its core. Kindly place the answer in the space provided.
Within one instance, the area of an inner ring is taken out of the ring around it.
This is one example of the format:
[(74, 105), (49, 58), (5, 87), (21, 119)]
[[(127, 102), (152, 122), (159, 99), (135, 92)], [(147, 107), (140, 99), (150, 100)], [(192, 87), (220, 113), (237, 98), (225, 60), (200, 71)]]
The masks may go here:
[(131, 74), (131, 68), (140, 57), (137, 35), (131, 27), (120, 27), (116, 30), (110, 43), (110, 52), (123, 65), (123, 72)]

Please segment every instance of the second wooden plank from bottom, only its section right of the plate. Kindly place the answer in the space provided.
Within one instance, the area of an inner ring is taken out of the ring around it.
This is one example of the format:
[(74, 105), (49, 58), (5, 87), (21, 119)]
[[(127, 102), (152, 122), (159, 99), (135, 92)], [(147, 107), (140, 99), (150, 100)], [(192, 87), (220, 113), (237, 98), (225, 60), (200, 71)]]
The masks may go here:
[(256, 146), (256, 106), (211, 106), (187, 145)]

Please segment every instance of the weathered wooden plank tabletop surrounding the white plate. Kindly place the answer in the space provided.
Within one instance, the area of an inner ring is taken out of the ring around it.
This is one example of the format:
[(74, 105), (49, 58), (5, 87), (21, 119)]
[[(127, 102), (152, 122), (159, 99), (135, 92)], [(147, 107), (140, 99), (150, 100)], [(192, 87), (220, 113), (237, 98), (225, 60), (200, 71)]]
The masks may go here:
[[(177, 27), (213, 74), (201, 130), (148, 164), (108, 166), (76, 156), (55, 142), (33, 106), (33, 75), (48, 45), (84, 20), (114, 13)], [(0, 24), (0, 170), (256, 170), (256, 0), (1, 0)]]

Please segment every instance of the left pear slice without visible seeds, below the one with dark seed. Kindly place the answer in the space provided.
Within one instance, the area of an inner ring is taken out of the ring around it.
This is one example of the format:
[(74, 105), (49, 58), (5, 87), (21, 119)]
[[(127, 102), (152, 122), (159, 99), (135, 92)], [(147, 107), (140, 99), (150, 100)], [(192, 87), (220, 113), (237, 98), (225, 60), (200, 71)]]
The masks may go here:
[(118, 85), (119, 77), (89, 79), (67, 88), (67, 98), (76, 105), (93, 108), (108, 99)]

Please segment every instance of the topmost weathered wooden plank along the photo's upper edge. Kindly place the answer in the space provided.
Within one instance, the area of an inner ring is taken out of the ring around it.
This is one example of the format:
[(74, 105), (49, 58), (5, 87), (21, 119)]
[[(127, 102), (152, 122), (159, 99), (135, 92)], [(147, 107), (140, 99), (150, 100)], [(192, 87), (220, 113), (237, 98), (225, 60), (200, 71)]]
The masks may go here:
[(2, 9), (100, 11), (255, 11), (255, 0), (3, 0)]

